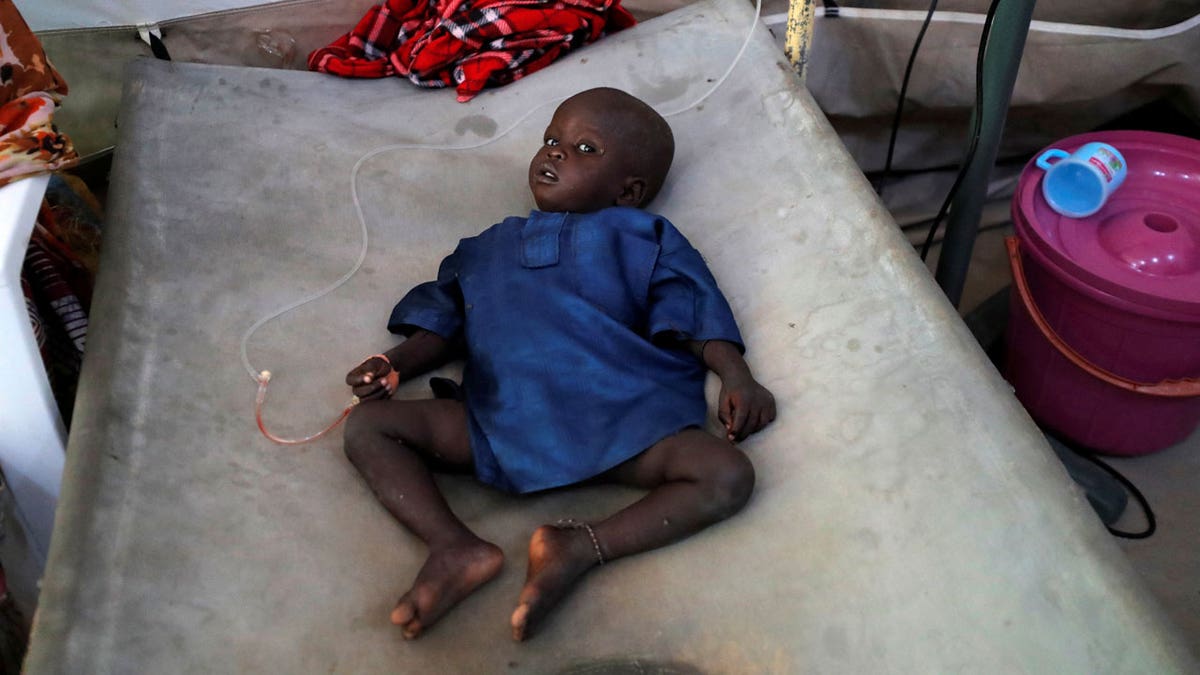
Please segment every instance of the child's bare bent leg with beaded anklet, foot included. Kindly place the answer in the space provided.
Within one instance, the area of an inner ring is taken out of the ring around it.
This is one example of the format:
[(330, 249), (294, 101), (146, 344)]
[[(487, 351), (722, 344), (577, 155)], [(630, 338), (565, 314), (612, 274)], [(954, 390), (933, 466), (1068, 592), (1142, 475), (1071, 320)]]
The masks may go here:
[(737, 513), (754, 490), (754, 467), (742, 450), (698, 429), (659, 441), (602, 478), (650, 491), (586, 528), (542, 525), (529, 540), (526, 585), (512, 613), (523, 640), (584, 572), (683, 539)]

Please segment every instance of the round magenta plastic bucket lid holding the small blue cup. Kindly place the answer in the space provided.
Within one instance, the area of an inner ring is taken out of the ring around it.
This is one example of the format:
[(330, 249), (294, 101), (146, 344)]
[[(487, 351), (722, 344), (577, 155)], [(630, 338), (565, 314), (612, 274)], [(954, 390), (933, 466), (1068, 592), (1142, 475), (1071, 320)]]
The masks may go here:
[(1046, 203), (1045, 172), (1031, 161), (1013, 202), (1019, 237), (1087, 286), (1180, 319), (1200, 317), (1200, 141), (1106, 131), (1064, 138), (1038, 155), (1093, 141), (1124, 155), (1124, 184), (1096, 214), (1072, 219)]

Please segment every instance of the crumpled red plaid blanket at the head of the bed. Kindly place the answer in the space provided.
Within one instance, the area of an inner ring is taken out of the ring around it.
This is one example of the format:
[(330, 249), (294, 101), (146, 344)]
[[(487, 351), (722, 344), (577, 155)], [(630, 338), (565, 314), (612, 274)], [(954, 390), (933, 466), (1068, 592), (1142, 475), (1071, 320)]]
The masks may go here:
[(469, 101), (635, 23), (620, 0), (385, 0), (310, 54), (308, 70), (403, 76)]

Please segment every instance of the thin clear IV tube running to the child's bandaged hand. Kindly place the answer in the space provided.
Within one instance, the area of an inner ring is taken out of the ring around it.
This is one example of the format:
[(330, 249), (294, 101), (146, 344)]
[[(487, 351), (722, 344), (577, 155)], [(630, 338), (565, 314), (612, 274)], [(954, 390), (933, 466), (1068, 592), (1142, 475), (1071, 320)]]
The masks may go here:
[[(682, 108), (679, 108), (677, 110), (672, 110), (672, 112), (668, 112), (668, 113), (659, 113), (659, 114), (661, 114), (664, 118), (670, 118), (670, 117), (678, 115), (680, 113), (685, 113), (685, 112), (695, 108), (696, 106), (700, 106), (701, 103), (703, 103), (709, 96), (713, 95), (713, 92), (715, 92), (722, 84), (725, 84), (725, 80), (728, 79), (730, 74), (733, 72), (733, 68), (737, 67), (738, 62), (742, 60), (742, 55), (745, 54), (746, 47), (750, 46), (750, 40), (754, 37), (754, 29), (758, 24), (758, 17), (761, 14), (762, 14), (762, 0), (755, 0), (754, 19), (751, 19), (751, 22), (750, 22), (750, 29), (746, 31), (746, 36), (745, 36), (745, 40), (743, 40), (743, 42), (742, 42), (742, 47), (738, 49), (738, 53), (733, 56), (733, 60), (730, 61), (728, 67), (725, 68), (725, 72), (721, 74), (721, 77), (716, 78), (716, 80), (713, 83), (713, 85), (710, 88), (708, 88), (707, 91), (704, 91), (698, 98), (696, 98), (691, 103), (689, 103), (689, 104), (686, 104), (686, 106), (684, 106), (684, 107), (682, 107)], [(516, 129), (517, 126), (520, 126), (521, 123), (523, 123), (524, 120), (529, 119), (534, 113), (541, 110), (542, 108), (545, 108), (546, 106), (550, 106), (552, 103), (557, 104), (557, 103), (562, 102), (563, 100), (565, 100), (565, 97), (553, 98), (553, 100), (550, 100), (550, 101), (546, 101), (546, 102), (541, 103), (540, 106), (535, 106), (535, 107), (530, 108), (529, 112), (527, 112), (526, 114), (523, 114), (520, 118), (517, 118), (517, 120), (515, 123), (512, 123), (511, 125), (509, 125), (500, 133), (497, 133), (497, 135), (492, 136), (491, 138), (487, 138), (485, 141), (480, 141), (478, 143), (470, 143), (470, 144), (467, 144), (467, 145), (440, 145), (440, 144), (430, 145), (430, 144), (421, 144), (421, 143), (395, 143), (395, 144), (391, 144), (391, 145), (382, 145), (379, 148), (376, 148), (376, 149), (368, 151), (367, 154), (362, 155), (361, 157), (359, 157), (359, 161), (354, 162), (354, 168), (350, 169), (350, 198), (354, 202), (354, 213), (355, 213), (355, 215), (359, 219), (359, 231), (360, 231), (360, 235), (361, 235), (361, 245), (359, 246), (359, 256), (354, 261), (354, 264), (350, 267), (349, 271), (347, 271), (346, 274), (343, 274), (341, 277), (337, 279), (337, 281), (330, 283), (329, 286), (326, 286), (326, 287), (324, 287), (324, 288), (322, 288), (322, 289), (319, 289), (319, 291), (317, 291), (314, 293), (305, 295), (304, 298), (300, 298), (299, 300), (295, 300), (293, 303), (288, 303), (283, 307), (281, 307), (281, 309), (278, 309), (278, 310), (276, 310), (274, 312), (270, 312), (266, 316), (259, 318), (253, 324), (251, 324), (251, 327), (247, 328), (246, 331), (241, 336), (241, 346), (240, 346), (241, 365), (246, 370), (246, 372), (250, 375), (251, 380), (253, 380), (254, 382), (258, 383), (258, 395), (254, 399), (254, 419), (258, 422), (258, 429), (259, 429), (259, 431), (263, 432), (263, 436), (266, 436), (268, 438), (270, 438), (275, 443), (280, 443), (281, 446), (299, 446), (301, 443), (307, 443), (310, 441), (316, 441), (317, 438), (320, 438), (325, 434), (329, 434), (330, 431), (334, 430), (334, 428), (336, 428), (338, 424), (341, 424), (342, 420), (346, 419), (350, 414), (350, 410), (353, 410), (354, 406), (358, 405), (358, 402), (359, 402), (358, 396), (352, 398), (349, 405), (346, 406), (346, 410), (342, 411), (342, 413), (337, 417), (337, 419), (335, 419), (325, 429), (323, 429), (323, 430), (320, 430), (317, 434), (313, 434), (311, 436), (305, 436), (305, 437), (301, 437), (301, 438), (283, 438), (281, 436), (276, 436), (275, 434), (271, 434), (270, 431), (268, 431), (266, 425), (263, 423), (263, 402), (266, 400), (266, 386), (271, 381), (271, 372), (269, 370), (263, 370), (263, 371), (254, 370), (254, 366), (252, 366), (250, 364), (250, 357), (246, 354), (246, 345), (250, 342), (250, 339), (254, 335), (254, 333), (259, 328), (263, 327), (263, 324), (265, 324), (266, 322), (272, 321), (272, 319), (275, 319), (275, 318), (277, 318), (280, 316), (283, 316), (283, 315), (288, 313), (289, 311), (292, 311), (292, 310), (294, 310), (294, 309), (296, 309), (296, 307), (299, 307), (301, 305), (306, 305), (306, 304), (308, 304), (308, 303), (311, 303), (313, 300), (317, 300), (317, 299), (320, 299), (320, 298), (328, 295), (329, 293), (332, 293), (334, 291), (336, 291), (337, 288), (340, 288), (343, 283), (346, 283), (347, 281), (349, 281), (350, 277), (353, 277), (355, 274), (358, 274), (359, 268), (362, 267), (362, 261), (365, 261), (366, 257), (367, 257), (367, 246), (368, 246), (368, 240), (370, 240), (370, 233), (367, 232), (367, 219), (366, 219), (366, 215), (364, 215), (364, 213), (362, 213), (362, 203), (359, 201), (359, 180), (358, 179), (359, 179), (359, 169), (362, 167), (362, 165), (366, 163), (367, 160), (371, 160), (372, 157), (376, 157), (377, 155), (380, 155), (383, 153), (389, 153), (389, 151), (392, 151), (392, 150), (442, 150), (442, 151), (475, 150), (478, 148), (482, 148), (485, 145), (490, 145), (490, 144), (499, 141), (500, 138), (504, 138), (514, 129)]]

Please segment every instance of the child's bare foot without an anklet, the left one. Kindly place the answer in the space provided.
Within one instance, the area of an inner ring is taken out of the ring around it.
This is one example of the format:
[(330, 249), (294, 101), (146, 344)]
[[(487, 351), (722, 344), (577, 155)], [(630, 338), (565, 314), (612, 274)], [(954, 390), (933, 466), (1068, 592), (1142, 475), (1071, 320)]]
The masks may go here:
[(431, 550), (416, 580), (391, 610), (391, 622), (412, 640), (482, 586), (504, 565), (504, 552), (482, 539)]

